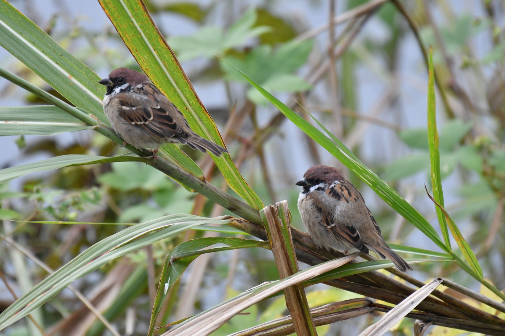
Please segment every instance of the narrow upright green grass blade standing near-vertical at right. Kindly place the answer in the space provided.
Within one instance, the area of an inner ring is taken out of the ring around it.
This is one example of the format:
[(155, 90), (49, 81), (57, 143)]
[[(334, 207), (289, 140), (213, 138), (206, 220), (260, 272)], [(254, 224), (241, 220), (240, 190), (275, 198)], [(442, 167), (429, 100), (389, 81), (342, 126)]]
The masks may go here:
[[(433, 198), (439, 205), (444, 206), (442, 178), (440, 175), (440, 153), (438, 152), (438, 131), (435, 106), (435, 80), (433, 70), (433, 50), (430, 48), (429, 73), (428, 73), (428, 147), (430, 149), (431, 163), (431, 187), (433, 188)], [(438, 223), (442, 231), (443, 240), (447, 250), (450, 251), (449, 230), (442, 211), (435, 206)]]

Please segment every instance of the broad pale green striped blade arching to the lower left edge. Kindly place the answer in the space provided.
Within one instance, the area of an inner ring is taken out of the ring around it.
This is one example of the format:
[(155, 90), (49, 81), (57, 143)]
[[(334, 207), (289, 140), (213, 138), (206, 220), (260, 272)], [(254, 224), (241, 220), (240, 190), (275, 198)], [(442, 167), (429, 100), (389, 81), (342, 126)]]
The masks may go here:
[(0, 314), (0, 330), (40, 307), (72, 281), (117, 257), (200, 224), (225, 224), (230, 221), (229, 217), (204, 218), (178, 214), (140, 223), (109, 236), (86, 249), (10, 305)]

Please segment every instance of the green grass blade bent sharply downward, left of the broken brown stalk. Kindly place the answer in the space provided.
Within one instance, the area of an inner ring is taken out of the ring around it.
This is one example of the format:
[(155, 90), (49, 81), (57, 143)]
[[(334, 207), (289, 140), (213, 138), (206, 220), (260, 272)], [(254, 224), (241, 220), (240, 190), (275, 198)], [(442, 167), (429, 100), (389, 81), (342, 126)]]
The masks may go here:
[[(209, 248), (212, 245), (225, 245), (221, 247)], [(156, 318), (165, 301), (168, 291), (179, 280), (189, 264), (200, 254), (218, 251), (234, 250), (237, 248), (263, 247), (268, 248), (265, 241), (229, 238), (229, 237), (206, 237), (185, 241), (177, 245), (167, 256), (163, 271), (160, 277), (160, 284), (156, 293), (153, 314), (149, 323), (148, 335), (153, 334)]]

